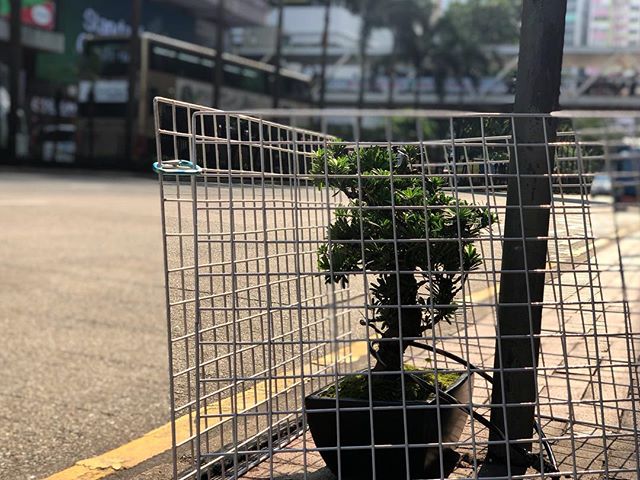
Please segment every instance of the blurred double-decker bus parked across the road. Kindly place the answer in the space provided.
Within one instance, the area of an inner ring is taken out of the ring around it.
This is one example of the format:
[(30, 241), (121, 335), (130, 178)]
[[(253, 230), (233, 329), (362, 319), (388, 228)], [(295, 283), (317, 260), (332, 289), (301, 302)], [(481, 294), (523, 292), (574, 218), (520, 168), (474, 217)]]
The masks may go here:
[[(77, 155), (114, 166), (147, 159), (153, 151), (153, 98), (163, 96), (211, 105), (216, 52), (152, 33), (140, 36), (135, 122), (129, 132), (134, 159), (125, 159), (130, 43), (127, 37), (88, 37), (78, 86)], [(223, 53), (219, 108), (249, 110), (272, 104), (275, 67)], [(309, 106), (311, 78), (281, 70), (281, 106)], [(121, 163), (122, 164), (122, 163)]]

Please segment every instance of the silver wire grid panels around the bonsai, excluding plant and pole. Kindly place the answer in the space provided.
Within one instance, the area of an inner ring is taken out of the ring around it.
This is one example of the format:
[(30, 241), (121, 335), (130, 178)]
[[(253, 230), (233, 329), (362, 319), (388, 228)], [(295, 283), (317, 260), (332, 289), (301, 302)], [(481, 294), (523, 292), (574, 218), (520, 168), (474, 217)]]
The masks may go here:
[[(371, 273), (350, 272), (350, 286), (343, 289), (325, 284), (325, 272), (318, 269), (318, 247), (347, 199), (313, 185), (311, 158), (336, 142), (317, 131), (353, 139), (341, 141), (350, 149), (415, 145), (422, 175), (447, 179), (457, 200), (498, 216), (476, 242), (483, 265), (469, 275), (457, 316), (451, 325), (439, 324), (427, 341), (470, 365), (416, 348), (406, 355), (413, 365), (429, 357), (436, 372), (474, 371), (473, 396), (463, 406), (488, 417), (492, 387), (479, 374), (494, 371), (506, 180), (513, 176), (507, 165), (517, 154), (518, 117), (398, 118), (396, 112), (247, 116), (157, 100), (175, 478), (205, 472), (210, 478), (331, 478), (319, 457), (322, 449), (307, 432), (304, 398), (371, 368), (372, 335), (360, 325), (371, 308)], [(631, 201), (620, 209), (589, 195), (593, 174), (600, 171), (610, 172), (614, 189), (640, 183), (640, 157), (621, 153), (636, 136), (635, 125), (564, 118), (552, 145), (556, 161), (547, 177), (552, 201), (534, 406), (558, 470), (571, 478), (631, 479), (640, 472), (638, 205)], [(170, 171), (186, 159), (187, 169), (201, 170)], [(619, 172), (623, 162), (635, 170)], [(435, 404), (449, 408), (438, 396)], [(368, 407), (371, 415), (375, 409)], [(433, 477), (476, 478), (488, 437), (474, 417), (452, 444), (438, 431), (439, 441), (431, 446), (440, 457), (449, 447), (461, 456), (450, 473), (441, 460)], [(509, 468), (490, 478), (549, 478), (548, 471), (539, 471), (548, 459), (545, 445), (533, 433), (529, 442), (541, 459), (537, 469)], [(375, 457), (374, 446), (384, 448), (371, 442), (361, 447)], [(409, 448), (406, 441), (399, 446)], [(402, 471), (397, 478), (416, 477)]]

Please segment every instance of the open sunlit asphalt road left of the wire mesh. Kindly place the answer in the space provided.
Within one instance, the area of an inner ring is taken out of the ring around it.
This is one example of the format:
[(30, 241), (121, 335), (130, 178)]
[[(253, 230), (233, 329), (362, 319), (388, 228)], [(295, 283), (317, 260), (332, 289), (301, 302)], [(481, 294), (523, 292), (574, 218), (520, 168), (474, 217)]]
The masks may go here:
[(168, 421), (157, 182), (0, 170), (0, 479)]

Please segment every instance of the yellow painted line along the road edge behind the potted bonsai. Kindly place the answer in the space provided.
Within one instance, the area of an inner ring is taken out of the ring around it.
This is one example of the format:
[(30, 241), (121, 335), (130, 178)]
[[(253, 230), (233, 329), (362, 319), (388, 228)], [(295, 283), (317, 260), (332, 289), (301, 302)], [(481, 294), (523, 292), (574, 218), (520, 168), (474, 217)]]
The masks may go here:
[[(478, 292), (473, 292), (471, 295), (473, 301), (480, 302), (493, 296), (494, 288), (488, 287)], [(335, 355), (329, 354), (320, 359), (320, 364), (332, 364), (335, 361), (350, 356), (352, 361), (364, 357), (367, 354), (367, 342), (357, 341), (348, 347), (342, 348), (338, 352), (338, 358)], [(237, 409), (246, 410), (253, 407), (256, 403), (264, 401), (269, 393), (281, 392), (289, 387), (289, 383), (286, 379), (272, 380), (269, 383), (268, 380), (259, 382), (255, 387), (245, 390), (243, 395), (238, 395)], [(242, 399), (253, 399), (251, 404), (240, 403)], [(213, 405), (207, 406), (208, 414), (230, 414), (233, 412), (233, 397), (224, 398), (218, 404), (218, 411), (212, 412), (215, 408)], [(195, 415), (184, 415), (176, 419), (176, 438), (178, 442), (181, 439), (189, 438), (192, 432), (192, 421)], [(218, 422), (220, 423), (220, 422)], [(215, 423), (211, 424), (209, 428), (215, 426)], [(171, 449), (171, 423), (167, 423), (142, 437), (136, 438), (129, 443), (126, 443), (114, 450), (106, 452), (96, 457), (87, 458), (76, 462), (72, 467), (67, 468), (61, 472), (55, 473), (45, 480), (99, 480), (105, 478), (118, 471), (127, 470), (133, 468), (141, 463), (160, 455)]]

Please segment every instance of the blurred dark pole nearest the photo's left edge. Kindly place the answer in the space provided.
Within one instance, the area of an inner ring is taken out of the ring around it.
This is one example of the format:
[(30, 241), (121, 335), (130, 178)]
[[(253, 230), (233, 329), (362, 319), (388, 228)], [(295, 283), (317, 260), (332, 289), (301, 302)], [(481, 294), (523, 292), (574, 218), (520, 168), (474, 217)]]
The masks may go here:
[(20, 75), (22, 72), (22, 21), (21, 0), (11, 0), (11, 20), (9, 38), (9, 96), (11, 108), (9, 110), (9, 158), (17, 158), (16, 137), (19, 132), (18, 110), (20, 108)]

